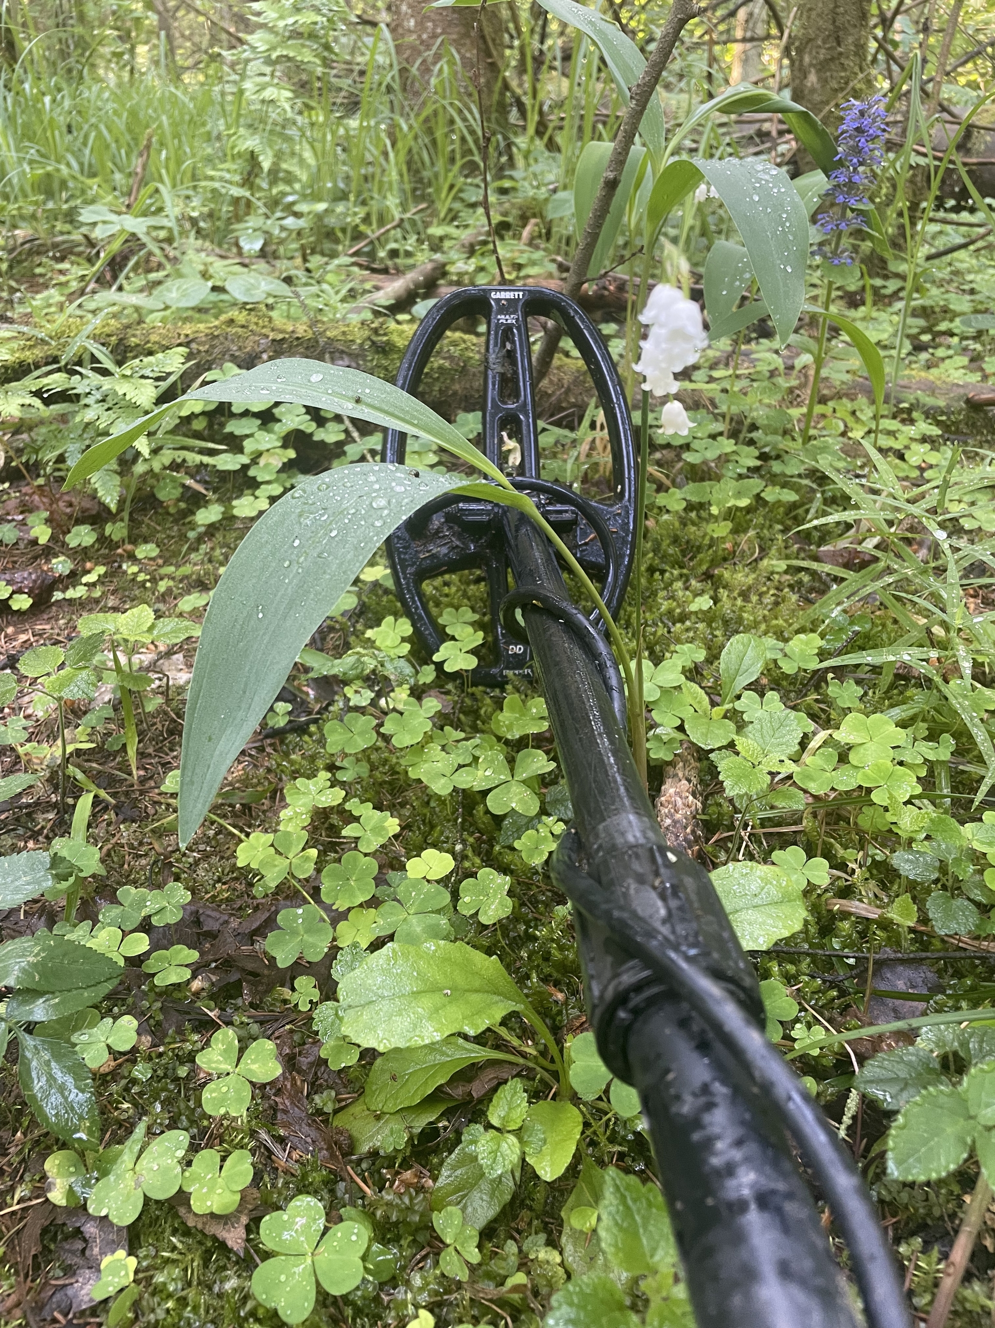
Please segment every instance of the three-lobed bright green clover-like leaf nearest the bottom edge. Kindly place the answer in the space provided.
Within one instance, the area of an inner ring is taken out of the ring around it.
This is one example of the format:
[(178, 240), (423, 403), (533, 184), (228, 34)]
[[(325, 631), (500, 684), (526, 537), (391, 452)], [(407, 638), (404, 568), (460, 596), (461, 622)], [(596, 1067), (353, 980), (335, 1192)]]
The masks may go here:
[(252, 1295), (276, 1309), (285, 1324), (298, 1324), (314, 1308), (314, 1279), (332, 1296), (344, 1296), (362, 1282), (362, 1255), (369, 1235), (358, 1222), (340, 1222), (321, 1239), (325, 1210), (308, 1194), (284, 1212), (263, 1218), (259, 1235), (276, 1258), (252, 1274)]

